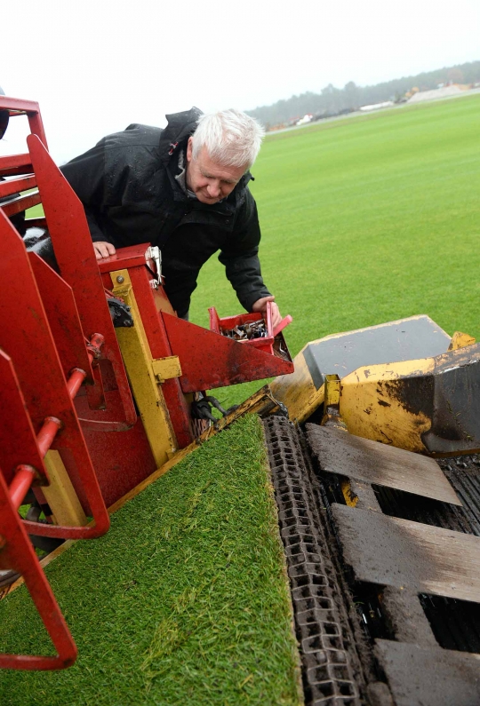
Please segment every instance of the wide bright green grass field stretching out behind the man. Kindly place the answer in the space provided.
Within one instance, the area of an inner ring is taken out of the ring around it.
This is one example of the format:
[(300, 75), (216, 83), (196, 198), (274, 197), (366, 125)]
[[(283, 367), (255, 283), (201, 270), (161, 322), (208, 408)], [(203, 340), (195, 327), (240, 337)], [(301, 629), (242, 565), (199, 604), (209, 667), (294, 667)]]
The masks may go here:
[[(480, 96), (268, 135), (252, 173), (260, 258), (292, 355), (309, 340), (427, 313), (480, 337)], [(240, 312), (215, 259), (193, 298)], [(219, 396), (240, 401), (259, 384)]]

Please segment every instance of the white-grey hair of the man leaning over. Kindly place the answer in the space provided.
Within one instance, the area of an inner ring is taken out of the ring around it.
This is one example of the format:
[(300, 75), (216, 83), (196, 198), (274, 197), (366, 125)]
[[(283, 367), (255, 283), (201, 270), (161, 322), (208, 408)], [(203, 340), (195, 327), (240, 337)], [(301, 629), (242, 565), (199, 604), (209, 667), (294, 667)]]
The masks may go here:
[(264, 135), (260, 123), (241, 110), (207, 113), (198, 119), (193, 134), (192, 156), (196, 159), (205, 147), (213, 162), (225, 167), (245, 167), (247, 170), (259, 154)]

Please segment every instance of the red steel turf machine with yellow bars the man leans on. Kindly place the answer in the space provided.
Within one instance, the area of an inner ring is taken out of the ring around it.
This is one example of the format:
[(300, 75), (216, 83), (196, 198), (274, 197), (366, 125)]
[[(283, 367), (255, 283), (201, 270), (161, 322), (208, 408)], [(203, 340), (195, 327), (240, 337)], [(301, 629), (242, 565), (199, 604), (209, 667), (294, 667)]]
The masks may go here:
[[(212, 417), (204, 391), (292, 372), (291, 318), (273, 330), (268, 313), (260, 334), (256, 314), (212, 309), (210, 330), (179, 319), (148, 243), (99, 266), (38, 104), (0, 96), (0, 115), (27, 115), (31, 133), (27, 154), (0, 157), (0, 570), (23, 576), (58, 652), (0, 654), (0, 667), (52, 670), (72, 664), (76, 646), (32, 538), (107, 532), (108, 507), (195, 446)], [(38, 203), (44, 218), (27, 224), (48, 232), (55, 268), (12, 225)]]

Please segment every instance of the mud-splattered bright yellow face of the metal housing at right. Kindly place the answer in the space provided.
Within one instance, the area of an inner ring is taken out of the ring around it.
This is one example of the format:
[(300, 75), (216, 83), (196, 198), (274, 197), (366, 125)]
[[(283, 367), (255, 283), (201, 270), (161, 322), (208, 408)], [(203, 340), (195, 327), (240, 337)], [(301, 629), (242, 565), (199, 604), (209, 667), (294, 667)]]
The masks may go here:
[(433, 372), (433, 358), (358, 368), (341, 381), (340, 414), (348, 432), (364, 439), (422, 452), (421, 434), (431, 419), (404, 408), (396, 398), (395, 381), (415, 372)]

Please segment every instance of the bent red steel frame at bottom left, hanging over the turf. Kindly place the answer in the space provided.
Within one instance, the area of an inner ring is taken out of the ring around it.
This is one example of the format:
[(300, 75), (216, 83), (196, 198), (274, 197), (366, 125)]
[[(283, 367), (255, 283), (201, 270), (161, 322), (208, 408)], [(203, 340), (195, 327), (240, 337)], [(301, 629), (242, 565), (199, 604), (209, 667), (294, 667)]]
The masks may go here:
[(0, 668), (10, 670), (60, 670), (76, 660), (76, 645), (60, 613), (52, 589), (36, 557), (20, 515), (10, 500), (9, 490), (0, 470), (0, 568), (23, 575), (36, 609), (44, 622), (56, 656), (0, 654)]

